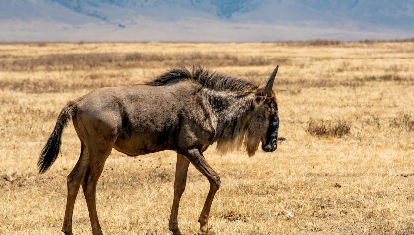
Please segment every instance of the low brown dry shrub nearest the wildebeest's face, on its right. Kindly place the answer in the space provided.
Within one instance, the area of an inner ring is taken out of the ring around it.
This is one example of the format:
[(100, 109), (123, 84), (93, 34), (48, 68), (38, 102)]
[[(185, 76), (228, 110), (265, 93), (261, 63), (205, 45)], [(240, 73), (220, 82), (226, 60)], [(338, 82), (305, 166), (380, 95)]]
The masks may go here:
[(349, 134), (351, 130), (349, 122), (345, 120), (310, 119), (306, 131), (315, 136), (333, 136), (341, 138)]

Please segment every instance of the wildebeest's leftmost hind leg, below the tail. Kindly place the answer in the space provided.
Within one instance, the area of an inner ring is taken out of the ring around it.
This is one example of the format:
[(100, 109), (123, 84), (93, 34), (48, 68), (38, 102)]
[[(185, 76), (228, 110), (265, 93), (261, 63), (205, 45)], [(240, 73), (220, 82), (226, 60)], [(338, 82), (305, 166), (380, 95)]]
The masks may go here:
[(88, 150), (84, 148), (81, 143), (81, 156), (78, 159), (74, 169), (66, 177), (68, 186), (68, 198), (66, 201), (65, 219), (63, 221), (62, 232), (65, 234), (72, 234), (72, 213), (76, 200), (76, 195), (79, 191), (79, 186), (89, 166)]

